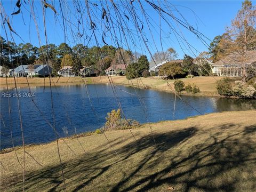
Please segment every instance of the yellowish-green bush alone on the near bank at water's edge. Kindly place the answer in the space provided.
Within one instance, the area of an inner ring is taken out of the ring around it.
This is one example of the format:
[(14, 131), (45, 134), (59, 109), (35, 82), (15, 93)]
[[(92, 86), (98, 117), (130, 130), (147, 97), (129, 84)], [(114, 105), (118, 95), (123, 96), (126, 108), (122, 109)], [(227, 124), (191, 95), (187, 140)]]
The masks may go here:
[(139, 127), (140, 123), (133, 119), (124, 119), (121, 117), (120, 109), (113, 109), (106, 117), (105, 130), (123, 130)]

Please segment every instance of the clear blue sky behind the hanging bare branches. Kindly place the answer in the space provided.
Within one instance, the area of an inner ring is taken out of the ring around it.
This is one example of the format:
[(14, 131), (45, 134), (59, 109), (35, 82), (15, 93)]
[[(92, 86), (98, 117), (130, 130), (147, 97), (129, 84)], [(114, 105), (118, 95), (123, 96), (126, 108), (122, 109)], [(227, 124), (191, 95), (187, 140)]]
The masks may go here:
[[(155, 1), (156, 2), (156, 1)], [(34, 46), (39, 46), (38, 41), (38, 35), (36, 31), (36, 27), (34, 24), (33, 18), (30, 17), (30, 6), (26, 5), (22, 1), (22, 14), (18, 15), (11, 15), (12, 12), (17, 11), (17, 7), (15, 7), (16, 1), (2, 1), (4, 10), (6, 15), (10, 16), (10, 21), (13, 29), (17, 31), (17, 33), (20, 35), (22, 39), (20, 39), (18, 36), (13, 35), (14, 41), (19, 43), (24, 42), (30, 42)], [(52, 1), (50, 1), (52, 3)], [(91, 6), (92, 9), (95, 7), (95, 13), (98, 14), (99, 17), (101, 17), (101, 7), (100, 2), (94, 2), (97, 3), (99, 6)], [(120, 2), (119, 2), (120, 3)], [(225, 32), (225, 27), (229, 26), (231, 23), (231, 19), (234, 19), (237, 11), (241, 9), (242, 1), (171, 1), (167, 3), (168, 5), (172, 6), (174, 5), (175, 8), (183, 15), (183, 17), (190, 23), (193, 28), (198, 29), (202, 34), (204, 34), (207, 38), (213, 39), (217, 35), (221, 35)], [(255, 1), (253, 1), (253, 4), (255, 5)], [(53, 2), (53, 5), (58, 13), (57, 16), (53, 14), (53, 11), (50, 8), (46, 9), (46, 29), (47, 29), (47, 39), (48, 43), (54, 43), (55, 45), (59, 45), (60, 43), (65, 41), (65, 35), (63, 33), (63, 25), (61, 20), (61, 10), (59, 1)], [(81, 5), (84, 5), (84, 3), (81, 2)], [(63, 6), (63, 5), (62, 5)], [(88, 42), (89, 36), (91, 35), (90, 27), (86, 21), (88, 18), (86, 17), (84, 19), (84, 29), (85, 34), (83, 37), (87, 35), (87, 39), (85, 38), (78, 38), (76, 34), (78, 33), (78, 30), (80, 33), (82, 33), (82, 25), (79, 26), (79, 29), (77, 28), (77, 20), (78, 13), (76, 12), (76, 7), (71, 2), (66, 3), (66, 9), (63, 9), (63, 14), (65, 17), (69, 18), (70, 23), (66, 22), (66, 43), (68, 43), (70, 46), (74, 46), (77, 43), (84, 43), (89, 46), (96, 45), (94, 37), (91, 38), (91, 41)], [(130, 37), (127, 37), (127, 42), (125, 42), (125, 37), (121, 37), (123, 40), (121, 41), (121, 45), (124, 48), (130, 48), (132, 51), (138, 51), (140, 53), (146, 54), (148, 57), (150, 57), (149, 51), (154, 53), (156, 50), (161, 51), (162, 47), (163, 50), (166, 50), (169, 47), (173, 47), (178, 52), (178, 58), (182, 59), (184, 53), (189, 54), (193, 57), (195, 57), (194, 54), (198, 54), (198, 52), (207, 51), (207, 47), (199, 41), (196, 35), (192, 34), (189, 30), (185, 29), (182, 26), (178, 26), (177, 23), (172, 22), (173, 26), (175, 27), (175, 30), (177, 30), (177, 33), (181, 36), (185, 37), (187, 39), (187, 42), (194, 47), (193, 52), (189, 49), (189, 46), (186, 44), (185, 41), (179, 40), (175, 38), (175, 34), (170, 31), (170, 27), (164, 23), (163, 19), (161, 20), (162, 23), (162, 45), (160, 41), (159, 36), (159, 14), (153, 11), (153, 8), (150, 7), (146, 2), (142, 2), (143, 8), (147, 11), (147, 13), (151, 17), (151, 22), (153, 25), (151, 25), (151, 34), (149, 31), (149, 28), (146, 27), (146, 21), (142, 17), (142, 13), (138, 12), (138, 17), (141, 17), (142, 23), (145, 27), (143, 27), (143, 35), (145, 38), (148, 39), (147, 46), (145, 46), (145, 43), (142, 42), (142, 38), (138, 37), (135, 32), (134, 35), (131, 35)], [(43, 17), (42, 17), (42, 5), (40, 2), (35, 1), (34, 4), (35, 7), (35, 14), (36, 14), (36, 20), (37, 25), (39, 29), (39, 36), (41, 39), (41, 45), (45, 44), (45, 37), (44, 37), (44, 26), (43, 26)], [(99, 9), (100, 7), (100, 9)], [(139, 9), (139, 5), (135, 5), (135, 8)], [(98, 10), (97, 10), (98, 9)], [(173, 8), (172, 8), (173, 9)], [(73, 11), (74, 12), (73, 12)], [(100, 11), (99, 11), (100, 10)], [(129, 11), (127, 10), (121, 10), (122, 13), (126, 13), (129, 15)], [(114, 14), (114, 12), (113, 12)], [(178, 18), (182, 19), (180, 14), (177, 11), (173, 11), (173, 14), (177, 16)], [(23, 19), (22, 19), (23, 15)], [(130, 15), (129, 15), (130, 16)], [(92, 20), (97, 17), (97, 15), (92, 15)], [(170, 18), (168, 18), (170, 19)], [(127, 20), (127, 28), (130, 28), (131, 30), (134, 28), (134, 23), (132, 23), (130, 20)], [(97, 21), (95, 21), (97, 23)], [(101, 21), (100, 21), (101, 22)], [(154, 24), (155, 22), (155, 24)], [(139, 23), (140, 25), (140, 23)], [(76, 26), (76, 27), (75, 27)], [(74, 34), (71, 33), (74, 31)], [(171, 33), (169, 33), (169, 31)], [(117, 32), (117, 30), (116, 30)], [(114, 31), (112, 31), (114, 33)], [(7, 29), (7, 34), (10, 37), (10, 32)], [(104, 45), (102, 42), (102, 33), (96, 31), (96, 35), (99, 41), (99, 45)], [(3, 27), (1, 28), (1, 36), (6, 38), (5, 32), (3, 30)], [(153, 37), (152, 37), (153, 36)], [(114, 44), (115, 41), (113, 38), (110, 38), (110, 35), (107, 35), (105, 38), (105, 42), (108, 44)], [(206, 38), (205, 38), (206, 39)], [(22, 42), (24, 41), (24, 42)], [(206, 39), (207, 44), (210, 43)], [(116, 45), (117, 46), (117, 45)], [(149, 51), (148, 51), (149, 50)], [(198, 52), (197, 52), (197, 51)]]

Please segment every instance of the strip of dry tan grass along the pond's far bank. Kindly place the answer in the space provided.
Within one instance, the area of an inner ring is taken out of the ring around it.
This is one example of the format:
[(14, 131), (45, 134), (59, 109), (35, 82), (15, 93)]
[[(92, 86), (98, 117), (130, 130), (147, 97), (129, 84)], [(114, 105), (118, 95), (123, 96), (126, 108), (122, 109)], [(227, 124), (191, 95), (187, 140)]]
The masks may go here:
[[(181, 81), (185, 82), (185, 85), (190, 83), (191, 85), (195, 84), (199, 87), (200, 93), (197, 93), (196, 95), (203, 95), (203, 96), (219, 96), (216, 90), (217, 80), (221, 79), (223, 77), (194, 77), (194, 78), (182, 78)], [(17, 86), (18, 87), (27, 87), (27, 79), (30, 84), (30, 86), (49, 86), (49, 78), (25, 78), (25, 77), (19, 77), (17, 79)], [(58, 81), (59, 79), (59, 81)], [(158, 77), (148, 77), (148, 78), (137, 78), (132, 79), (131, 81), (128, 81), (125, 76), (111, 76), (111, 81), (113, 81), (115, 84), (122, 84), (122, 85), (129, 85), (129, 86), (135, 86), (144, 89), (145, 87), (147, 89), (154, 89), (158, 91), (165, 91), (165, 92), (172, 92), (169, 86), (167, 86), (167, 83), (165, 80), (158, 78)], [(8, 86), (10, 89), (13, 89), (15, 87), (14, 85), (14, 78), (7, 78), (8, 80)], [(109, 83), (109, 79), (107, 76), (101, 76), (101, 77), (88, 77), (84, 78), (87, 84), (91, 83)], [(53, 77), (52, 81), (55, 85), (77, 85), (77, 84), (83, 84), (83, 80), (81, 77)], [(58, 83), (57, 83), (58, 81)], [(0, 78), (1, 82), (1, 89), (6, 89), (6, 79)], [(174, 87), (173, 80), (168, 81), (169, 84)], [(182, 92), (181, 94), (187, 94), (186, 92)]]

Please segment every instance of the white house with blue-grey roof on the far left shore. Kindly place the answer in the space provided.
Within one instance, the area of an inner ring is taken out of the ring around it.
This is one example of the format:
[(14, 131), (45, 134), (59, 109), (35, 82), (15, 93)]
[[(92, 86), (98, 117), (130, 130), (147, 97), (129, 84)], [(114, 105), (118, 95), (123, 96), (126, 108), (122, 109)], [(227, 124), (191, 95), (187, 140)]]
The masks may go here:
[(48, 65), (20, 65), (13, 71), (15, 77), (49, 76), (51, 73), (52, 68)]

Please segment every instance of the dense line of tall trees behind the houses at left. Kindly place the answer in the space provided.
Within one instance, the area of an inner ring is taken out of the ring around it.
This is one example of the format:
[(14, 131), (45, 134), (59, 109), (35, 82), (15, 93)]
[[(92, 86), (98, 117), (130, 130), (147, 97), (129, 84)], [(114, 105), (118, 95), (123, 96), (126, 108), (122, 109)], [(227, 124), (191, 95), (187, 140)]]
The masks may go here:
[(6, 42), (3, 37), (0, 37), (0, 41), (1, 65), (7, 68), (15, 68), (19, 65), (48, 64), (53, 68), (54, 73), (63, 66), (72, 66), (73, 70), (79, 70), (83, 66), (93, 66), (102, 72), (114, 63), (129, 64), (138, 59), (131, 51), (107, 45), (88, 47), (77, 44), (70, 47), (66, 43), (61, 43), (58, 46), (48, 44), (36, 47), (31, 43), (17, 45), (14, 42)]

